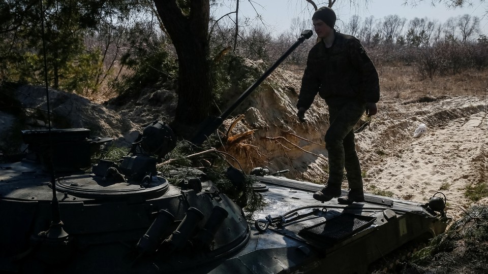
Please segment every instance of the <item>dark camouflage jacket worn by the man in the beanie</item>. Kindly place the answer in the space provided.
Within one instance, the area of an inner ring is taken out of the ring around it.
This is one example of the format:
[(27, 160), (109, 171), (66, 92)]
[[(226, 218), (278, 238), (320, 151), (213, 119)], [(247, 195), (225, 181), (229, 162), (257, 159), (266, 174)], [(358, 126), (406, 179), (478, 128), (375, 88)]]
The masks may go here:
[(351, 99), (377, 102), (380, 98), (378, 73), (359, 40), (335, 31), (330, 48), (321, 41), (309, 52), (297, 108), (310, 108), (319, 93), (327, 104)]

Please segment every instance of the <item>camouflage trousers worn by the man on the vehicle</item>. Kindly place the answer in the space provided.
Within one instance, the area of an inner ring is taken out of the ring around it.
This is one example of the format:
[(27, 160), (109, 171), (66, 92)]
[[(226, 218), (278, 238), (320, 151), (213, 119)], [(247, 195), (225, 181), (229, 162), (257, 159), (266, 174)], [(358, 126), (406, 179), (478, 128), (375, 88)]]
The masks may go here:
[(341, 184), (344, 168), (350, 189), (362, 190), (361, 166), (354, 142), (354, 125), (365, 111), (365, 104), (350, 101), (328, 105), (330, 126), (325, 133), (325, 148), (329, 159), (328, 185)]

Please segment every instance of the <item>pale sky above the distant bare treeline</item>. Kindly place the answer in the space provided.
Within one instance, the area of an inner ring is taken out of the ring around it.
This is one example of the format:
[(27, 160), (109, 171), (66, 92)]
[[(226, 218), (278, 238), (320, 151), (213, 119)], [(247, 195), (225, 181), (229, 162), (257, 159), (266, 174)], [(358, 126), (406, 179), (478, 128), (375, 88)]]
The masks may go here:
[[(254, 3), (254, 8), (250, 2)], [(314, 1), (319, 5), (327, 1)], [(359, 3), (359, 7), (351, 6), (351, 2)], [(369, 0), (368, 6), (365, 5), (364, 0), (337, 0), (333, 6), (335, 13), (338, 16), (336, 25), (341, 28), (344, 23), (349, 21), (350, 16), (357, 14), (364, 20), (365, 17), (374, 16), (375, 19), (382, 19), (388, 15), (398, 15), (401, 18), (406, 18), (407, 21), (415, 17), (427, 17), (430, 20), (437, 20), (444, 23), (451, 17), (469, 14), (471, 16), (478, 16), (481, 18), (481, 31), (488, 33), (488, 16), (484, 16), (488, 10), (488, 1), (473, 0), (475, 3), (472, 7), (465, 7), (462, 9), (447, 9), (444, 4), (438, 4), (437, 7), (431, 6), (431, 0), (421, 1), (417, 7), (403, 6), (404, 0)], [(409, 1), (412, 2), (412, 1)], [(480, 4), (481, 2), (481, 4)], [(268, 24), (268, 29), (278, 33), (290, 29), (293, 18), (300, 20), (309, 20), (312, 17), (312, 5), (305, 0), (240, 0), (239, 10), (242, 15), (247, 17), (255, 17), (256, 11), (262, 15), (262, 20)], [(226, 10), (227, 8), (227, 10)], [(235, 7), (223, 7), (221, 13), (233, 11)], [(256, 9), (256, 11), (254, 10)], [(255, 19), (258, 21), (258, 19)], [(312, 28), (312, 25), (310, 25)]]

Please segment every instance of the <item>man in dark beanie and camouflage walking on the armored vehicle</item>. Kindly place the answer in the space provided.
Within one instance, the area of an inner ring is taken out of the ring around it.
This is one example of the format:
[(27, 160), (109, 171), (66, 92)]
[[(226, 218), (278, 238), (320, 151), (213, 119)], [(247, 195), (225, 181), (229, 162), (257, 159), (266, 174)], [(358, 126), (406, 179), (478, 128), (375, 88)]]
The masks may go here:
[(330, 126), (325, 133), (329, 178), (314, 193), (319, 201), (341, 196), (344, 168), (349, 183), (347, 196), (339, 203), (364, 201), (361, 167), (354, 143), (354, 125), (362, 114), (377, 113), (380, 87), (376, 68), (359, 40), (334, 29), (335, 13), (328, 7), (312, 16), (319, 42), (310, 50), (296, 107), (302, 122), (317, 93), (329, 109)]

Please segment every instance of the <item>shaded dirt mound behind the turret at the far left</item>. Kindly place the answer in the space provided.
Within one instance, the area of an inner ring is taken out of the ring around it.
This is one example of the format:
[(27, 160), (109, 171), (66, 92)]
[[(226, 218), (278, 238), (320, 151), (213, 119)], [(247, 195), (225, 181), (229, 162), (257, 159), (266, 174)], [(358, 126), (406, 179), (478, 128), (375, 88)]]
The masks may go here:
[[(14, 108), (9, 112), (0, 111), (0, 150), (18, 153), (23, 149), (14, 149), (21, 142), (20, 130), (48, 127), (46, 89), (29, 85), (4, 87), (2, 94), (16, 104), (10, 104)], [(54, 128), (87, 128), (93, 136), (110, 136), (124, 145), (134, 141), (131, 132), (140, 130), (131, 119), (73, 93), (49, 89), (49, 101)]]

